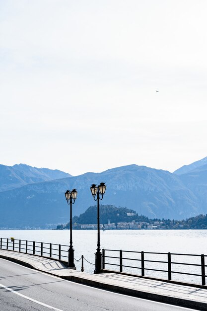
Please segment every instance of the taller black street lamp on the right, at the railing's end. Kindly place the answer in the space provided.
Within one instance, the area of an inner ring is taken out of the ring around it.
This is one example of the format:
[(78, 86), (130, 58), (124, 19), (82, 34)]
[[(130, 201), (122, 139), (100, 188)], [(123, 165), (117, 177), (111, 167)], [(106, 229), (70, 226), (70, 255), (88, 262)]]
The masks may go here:
[[(101, 249), (100, 249), (100, 216), (99, 216), (99, 201), (103, 199), (104, 193), (106, 191), (106, 185), (101, 182), (99, 186), (92, 184), (90, 191), (95, 201), (97, 201), (97, 225), (98, 225), (98, 238), (97, 238), (97, 251), (95, 253), (95, 270), (94, 273), (100, 273), (101, 271)], [(101, 198), (100, 198), (101, 195)]]

